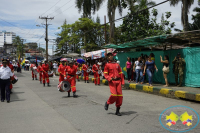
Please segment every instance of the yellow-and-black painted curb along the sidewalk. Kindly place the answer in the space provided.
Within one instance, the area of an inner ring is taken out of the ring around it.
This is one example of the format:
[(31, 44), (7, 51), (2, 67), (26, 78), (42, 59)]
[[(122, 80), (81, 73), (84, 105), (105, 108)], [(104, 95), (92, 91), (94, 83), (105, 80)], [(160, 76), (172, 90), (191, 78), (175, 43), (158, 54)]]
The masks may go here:
[[(82, 76), (79, 76), (79, 78), (84, 80), (84, 77)], [(93, 82), (94, 78), (90, 76), (89, 80)], [(101, 83), (108, 85), (108, 81), (106, 79), (102, 79)], [(148, 84), (136, 85), (136, 83), (128, 83), (128, 81), (125, 81), (125, 89), (147, 92), (169, 98), (187, 99), (200, 102), (200, 88), (176, 86), (164, 87), (164, 85), (161, 84), (153, 84), (153, 86), (150, 87)]]

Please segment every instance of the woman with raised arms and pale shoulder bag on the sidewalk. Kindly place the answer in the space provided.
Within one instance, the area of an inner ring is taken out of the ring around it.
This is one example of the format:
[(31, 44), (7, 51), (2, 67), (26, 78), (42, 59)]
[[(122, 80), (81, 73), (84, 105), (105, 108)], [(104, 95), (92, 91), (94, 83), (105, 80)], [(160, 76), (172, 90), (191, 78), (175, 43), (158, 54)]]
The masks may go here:
[(160, 62), (163, 63), (163, 77), (165, 79), (166, 85), (164, 87), (168, 87), (169, 83), (167, 80), (167, 74), (169, 73), (169, 56), (165, 55), (164, 60), (162, 60), (162, 56), (160, 56)]

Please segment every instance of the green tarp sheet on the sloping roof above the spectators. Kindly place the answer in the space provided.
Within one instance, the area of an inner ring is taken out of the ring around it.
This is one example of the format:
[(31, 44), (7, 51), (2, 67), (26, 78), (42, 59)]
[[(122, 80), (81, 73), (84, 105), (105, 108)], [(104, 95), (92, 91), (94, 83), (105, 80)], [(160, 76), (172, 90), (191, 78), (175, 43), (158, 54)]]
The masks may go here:
[(167, 40), (167, 35), (161, 36), (154, 36), (150, 38), (146, 38), (143, 40), (137, 40), (133, 42), (127, 42), (119, 45), (115, 44), (108, 44), (105, 45), (105, 48), (114, 48), (114, 49), (125, 49), (125, 48), (136, 48), (136, 47), (148, 47), (148, 46), (155, 46), (162, 43), (165, 43)]

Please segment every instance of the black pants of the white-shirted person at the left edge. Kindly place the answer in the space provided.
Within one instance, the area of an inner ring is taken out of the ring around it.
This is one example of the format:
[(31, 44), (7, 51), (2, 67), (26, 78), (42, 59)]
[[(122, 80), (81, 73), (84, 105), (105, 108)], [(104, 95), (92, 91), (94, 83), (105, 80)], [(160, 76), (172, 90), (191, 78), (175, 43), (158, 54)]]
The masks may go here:
[(10, 101), (10, 79), (0, 79), (0, 88), (1, 88), (1, 100)]

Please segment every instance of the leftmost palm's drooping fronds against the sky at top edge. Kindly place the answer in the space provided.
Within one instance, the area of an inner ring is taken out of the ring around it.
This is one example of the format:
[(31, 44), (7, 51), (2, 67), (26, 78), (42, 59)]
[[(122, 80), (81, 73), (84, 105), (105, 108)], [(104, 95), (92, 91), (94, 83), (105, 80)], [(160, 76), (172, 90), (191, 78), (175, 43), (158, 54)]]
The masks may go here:
[(92, 14), (100, 9), (104, 0), (76, 0), (76, 7), (79, 13), (83, 11), (83, 18), (89, 18)]

